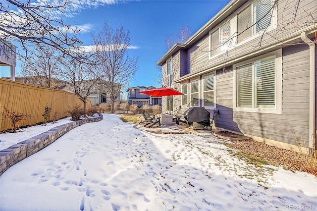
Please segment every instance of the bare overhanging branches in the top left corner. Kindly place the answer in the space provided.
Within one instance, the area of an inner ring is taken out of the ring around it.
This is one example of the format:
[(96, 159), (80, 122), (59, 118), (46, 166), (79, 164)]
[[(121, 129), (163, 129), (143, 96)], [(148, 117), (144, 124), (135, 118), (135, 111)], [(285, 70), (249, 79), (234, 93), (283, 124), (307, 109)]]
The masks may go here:
[(60, 18), (71, 2), (1, 0), (0, 41), (18, 42), (26, 53), (35, 47), (51, 46), (63, 54), (74, 56), (71, 50), (82, 44), (76, 37), (79, 31)]

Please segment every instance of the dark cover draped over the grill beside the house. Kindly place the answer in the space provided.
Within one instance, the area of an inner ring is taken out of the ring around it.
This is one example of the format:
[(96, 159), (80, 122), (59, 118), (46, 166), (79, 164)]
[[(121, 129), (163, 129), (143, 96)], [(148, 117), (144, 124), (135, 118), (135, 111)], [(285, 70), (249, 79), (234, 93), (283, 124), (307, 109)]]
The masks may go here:
[(204, 107), (190, 107), (184, 112), (184, 117), (189, 124), (199, 122), (203, 125), (210, 125), (210, 112)]

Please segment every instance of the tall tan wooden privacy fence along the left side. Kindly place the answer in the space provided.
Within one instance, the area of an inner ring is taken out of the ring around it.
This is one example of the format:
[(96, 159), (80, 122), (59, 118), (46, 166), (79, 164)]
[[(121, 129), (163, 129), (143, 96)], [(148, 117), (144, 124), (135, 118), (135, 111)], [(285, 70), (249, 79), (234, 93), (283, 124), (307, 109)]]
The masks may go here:
[[(0, 113), (4, 107), (11, 112), (27, 113), (27, 117), (19, 123), (19, 126), (33, 125), (44, 121), (44, 107), (52, 107), (50, 120), (54, 113), (60, 119), (69, 116), (65, 111), (76, 105), (84, 107), (84, 103), (78, 96), (66, 91), (35, 87), (16, 81), (0, 79)], [(92, 108), (91, 102), (87, 102), (87, 110)], [(11, 129), (11, 120), (0, 114), (0, 132)]]

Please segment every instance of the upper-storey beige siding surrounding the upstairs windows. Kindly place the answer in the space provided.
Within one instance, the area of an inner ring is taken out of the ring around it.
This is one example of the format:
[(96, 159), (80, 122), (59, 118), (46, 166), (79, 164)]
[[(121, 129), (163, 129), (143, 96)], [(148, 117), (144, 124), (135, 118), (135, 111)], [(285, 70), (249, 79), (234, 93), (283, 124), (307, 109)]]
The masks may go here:
[[(251, 2), (250, 2), (251, 3)], [(269, 30), (269, 34), (261, 34), (252, 36), (250, 39), (247, 39), (244, 42), (238, 43), (237, 45), (233, 45), (232, 47), (226, 52), (221, 52), (216, 54), (215, 56), (209, 57), (210, 55), (210, 49), (209, 49), (209, 35), (207, 34), (202, 40), (196, 43), (193, 47), (188, 49), (188, 56), (187, 56), (187, 72), (194, 73), (199, 72), (206, 69), (211, 69), (214, 67), (219, 67), (224, 64), (232, 63), (232, 62), (239, 62), (242, 60), (245, 60), (246, 58), (252, 58), (255, 56), (258, 56), (263, 53), (263, 49), (270, 49), (269, 51), (276, 50), (280, 47), (274, 45), (277, 45), (280, 40), (283, 40), (283, 38), (292, 36), (292, 33), (298, 32), (300, 28), (304, 30), (305, 24), (302, 24), (301, 21), (306, 22), (303, 20), (303, 17), (299, 17), (300, 15), (296, 15), (296, 27), (292, 24), (286, 24), (289, 22), (289, 19), (286, 19), (284, 16), (285, 14), (289, 14), (289, 18), (294, 17), (294, 7), (290, 8), (295, 2), (288, 2), (288, 1), (278, 1), (278, 9), (277, 9), (277, 28)], [(308, 5), (309, 4), (309, 5)], [(304, 9), (306, 9), (307, 12), (312, 12), (312, 15), (315, 14), (315, 17), (317, 16), (317, 5), (311, 5), (312, 1), (300, 1), (299, 8), (298, 8), (298, 14), (306, 13)], [(248, 6), (250, 4), (245, 4), (244, 7)], [(308, 7), (310, 6), (310, 7)], [(242, 8), (240, 10), (242, 10)], [(224, 21), (222, 21), (220, 24), (218, 24), (214, 29), (217, 29), (221, 24), (231, 19), (231, 22), (235, 23), (236, 19), (235, 16), (238, 12), (233, 13), (230, 18), (226, 18)], [(307, 15), (306, 15), (307, 16)], [(288, 16), (287, 16), (288, 17)], [(301, 23), (301, 24), (300, 24)], [(309, 24), (309, 23), (308, 23)], [(312, 25), (312, 24), (310, 24)], [(211, 30), (212, 31), (212, 30)], [(296, 42), (301, 41), (300, 37), (298, 36), (299, 33), (297, 33), (297, 40)], [(263, 36), (263, 39), (265, 42), (260, 43), (260, 39)], [(295, 34), (293, 36), (296, 36)], [(260, 45), (261, 44), (261, 45)]]

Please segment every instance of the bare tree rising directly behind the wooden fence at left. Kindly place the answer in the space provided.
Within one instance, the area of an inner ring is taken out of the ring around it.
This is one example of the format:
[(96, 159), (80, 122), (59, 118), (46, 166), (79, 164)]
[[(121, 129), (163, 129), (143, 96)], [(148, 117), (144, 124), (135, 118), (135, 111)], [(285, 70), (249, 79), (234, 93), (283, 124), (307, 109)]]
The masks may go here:
[[(58, 62), (60, 55), (51, 46), (32, 52), (31, 56), (24, 56), (21, 74), (30, 77), (31, 83), (46, 88), (58, 88), (56, 84)], [(58, 82), (57, 82), (58, 83)]]

